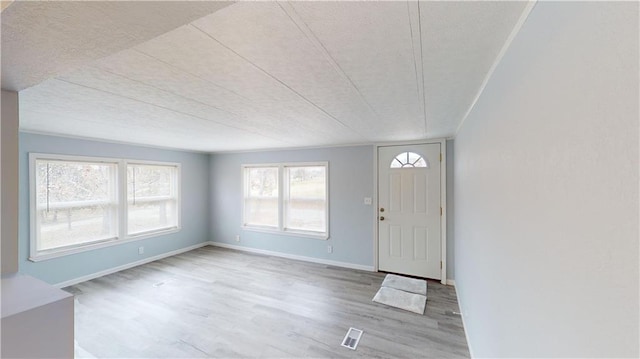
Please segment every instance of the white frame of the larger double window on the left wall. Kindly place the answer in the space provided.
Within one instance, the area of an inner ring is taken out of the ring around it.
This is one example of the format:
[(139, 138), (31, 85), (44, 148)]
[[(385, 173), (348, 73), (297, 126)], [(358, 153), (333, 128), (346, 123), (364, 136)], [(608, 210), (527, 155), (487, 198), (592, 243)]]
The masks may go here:
[[(103, 240), (96, 240), (89, 243), (71, 244), (64, 247), (52, 248), (48, 250), (38, 250), (38, 226), (37, 226), (37, 193), (36, 193), (36, 161), (37, 160), (49, 160), (49, 161), (68, 161), (68, 162), (90, 162), (90, 163), (108, 163), (116, 165), (116, 236), (114, 238), (108, 238)], [(128, 235), (127, 230), (127, 217), (128, 217), (128, 202), (127, 202), (127, 165), (128, 164), (152, 164), (162, 166), (173, 166), (177, 168), (176, 174), (176, 190), (177, 190), (177, 226), (168, 229), (158, 229), (154, 231), (148, 231), (138, 233), (135, 235)], [(75, 156), (75, 155), (60, 155), (60, 154), (47, 154), (47, 153), (29, 153), (29, 260), (32, 262), (44, 261), (47, 259), (58, 258), (67, 256), (70, 254), (86, 252), (98, 248), (110, 247), (118, 244), (137, 241), (145, 238), (156, 237), (169, 233), (175, 233), (182, 229), (181, 217), (182, 217), (182, 175), (181, 175), (180, 163), (174, 162), (159, 162), (159, 161), (139, 161), (122, 158), (111, 157), (90, 157), (90, 156)]]

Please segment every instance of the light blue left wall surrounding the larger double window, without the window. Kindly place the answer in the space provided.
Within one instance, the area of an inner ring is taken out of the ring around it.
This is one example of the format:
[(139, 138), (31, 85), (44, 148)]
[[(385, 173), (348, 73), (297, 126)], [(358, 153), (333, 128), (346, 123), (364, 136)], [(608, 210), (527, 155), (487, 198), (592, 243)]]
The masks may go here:
[[(51, 284), (61, 283), (162, 253), (207, 241), (209, 206), (208, 155), (113, 144), (63, 137), (20, 134), (19, 270)], [(182, 229), (173, 234), (141, 239), (42, 262), (29, 257), (28, 153), (131, 158), (182, 164)], [(138, 247), (145, 253), (138, 255)]]

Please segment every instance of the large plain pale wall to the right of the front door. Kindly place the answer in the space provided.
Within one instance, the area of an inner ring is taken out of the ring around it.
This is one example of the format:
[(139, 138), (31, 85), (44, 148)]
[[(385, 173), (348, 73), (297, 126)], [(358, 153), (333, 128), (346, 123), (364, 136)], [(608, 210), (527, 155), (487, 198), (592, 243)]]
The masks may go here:
[(455, 139), (477, 357), (638, 357), (638, 3), (539, 2)]

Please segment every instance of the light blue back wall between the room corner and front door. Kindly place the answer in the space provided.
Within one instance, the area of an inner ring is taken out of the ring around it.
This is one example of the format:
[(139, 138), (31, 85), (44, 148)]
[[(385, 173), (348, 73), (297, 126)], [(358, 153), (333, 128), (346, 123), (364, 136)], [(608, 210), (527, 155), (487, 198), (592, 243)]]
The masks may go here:
[[(374, 206), (364, 205), (373, 197), (374, 147), (264, 151), (210, 156), (211, 239), (216, 242), (313, 257), (363, 266), (373, 266)], [(274, 162), (329, 162), (329, 239), (242, 230), (242, 164)], [(236, 242), (235, 236), (241, 241)], [(327, 246), (333, 253), (327, 253)]]

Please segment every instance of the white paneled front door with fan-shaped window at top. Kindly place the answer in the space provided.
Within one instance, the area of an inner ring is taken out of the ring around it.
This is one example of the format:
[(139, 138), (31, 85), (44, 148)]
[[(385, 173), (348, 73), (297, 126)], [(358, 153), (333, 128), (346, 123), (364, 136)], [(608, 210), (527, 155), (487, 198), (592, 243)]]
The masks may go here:
[(441, 279), (440, 144), (378, 148), (378, 269)]

